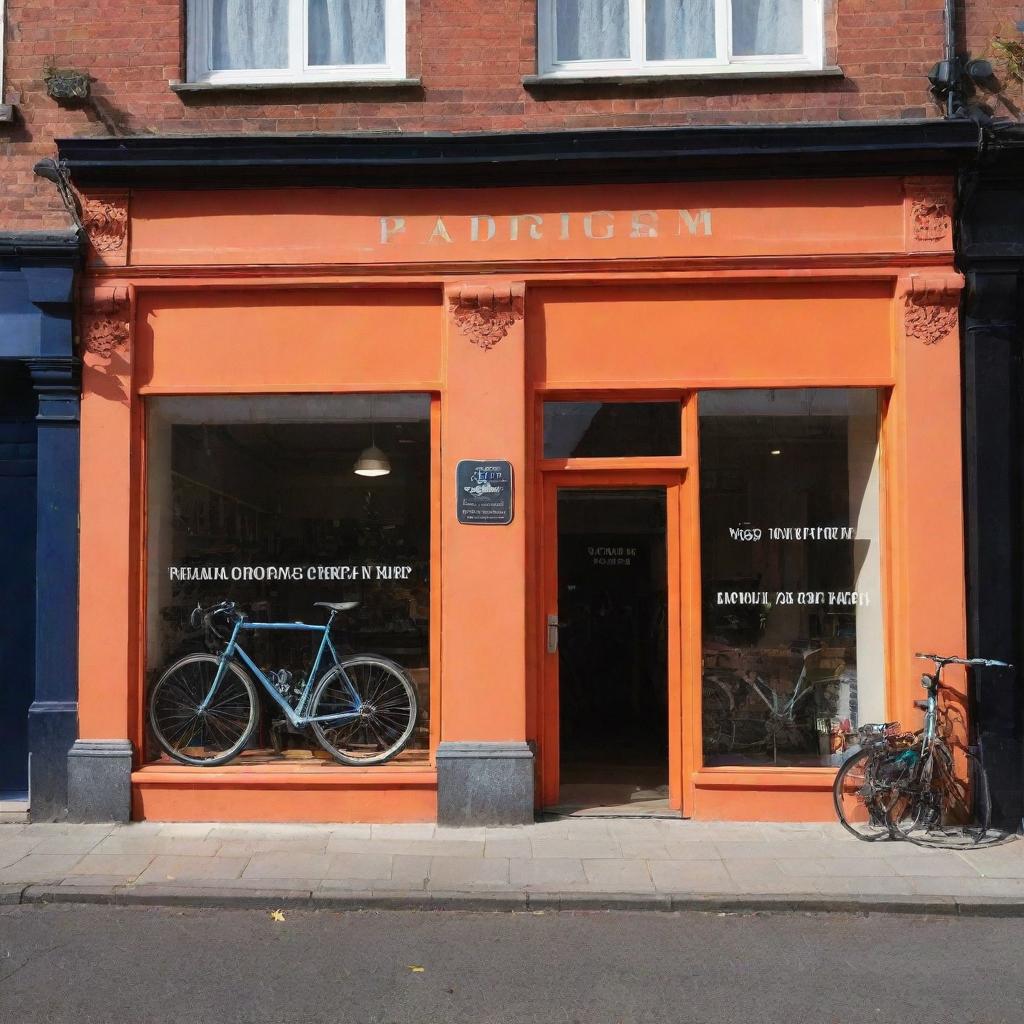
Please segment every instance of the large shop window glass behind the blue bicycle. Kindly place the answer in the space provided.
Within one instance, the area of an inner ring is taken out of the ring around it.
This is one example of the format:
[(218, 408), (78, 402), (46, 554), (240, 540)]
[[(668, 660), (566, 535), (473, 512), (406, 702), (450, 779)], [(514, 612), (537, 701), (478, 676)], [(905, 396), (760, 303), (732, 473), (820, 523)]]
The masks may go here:
[[(339, 656), (373, 653), (400, 666), (420, 710), (391, 763), (424, 761), (430, 396), (162, 397), (146, 411), (148, 684), (206, 649), (189, 621), (197, 604), (233, 601), (254, 622), (319, 625), (327, 612), (315, 602), (355, 601), (335, 621)], [(290, 680), (293, 694), (318, 641), (288, 631), (244, 636), (253, 660)], [(241, 763), (334, 764), (257, 689), (259, 725)], [(147, 754), (161, 757), (152, 736)]]

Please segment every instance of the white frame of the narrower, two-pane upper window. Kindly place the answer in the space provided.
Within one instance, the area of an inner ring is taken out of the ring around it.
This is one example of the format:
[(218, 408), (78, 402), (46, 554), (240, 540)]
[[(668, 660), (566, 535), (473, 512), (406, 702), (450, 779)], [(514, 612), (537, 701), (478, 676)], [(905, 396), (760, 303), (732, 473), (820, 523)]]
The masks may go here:
[(189, 82), (210, 85), (290, 85), (306, 82), (378, 82), (406, 77), (406, 0), (384, 0), (384, 62), (309, 65), (309, 0), (288, 0), (288, 67), (214, 71), (212, 0), (188, 0)]

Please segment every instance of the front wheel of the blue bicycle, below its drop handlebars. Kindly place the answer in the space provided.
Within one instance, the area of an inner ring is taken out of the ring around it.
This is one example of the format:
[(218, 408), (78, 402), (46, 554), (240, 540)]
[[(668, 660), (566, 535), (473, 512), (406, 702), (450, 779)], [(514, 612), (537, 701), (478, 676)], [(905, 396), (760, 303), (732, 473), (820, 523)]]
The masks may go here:
[(150, 694), (150, 725), (157, 742), (175, 761), (212, 768), (226, 764), (256, 728), (259, 702), (252, 680), (228, 662), (217, 692), (213, 688), (220, 658), (188, 654), (157, 680)]

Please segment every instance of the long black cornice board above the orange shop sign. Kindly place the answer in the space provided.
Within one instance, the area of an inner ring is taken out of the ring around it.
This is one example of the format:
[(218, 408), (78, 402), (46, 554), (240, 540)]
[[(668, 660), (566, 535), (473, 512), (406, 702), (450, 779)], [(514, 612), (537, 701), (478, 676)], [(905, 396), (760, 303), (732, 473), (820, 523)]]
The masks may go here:
[(158, 135), (57, 139), (88, 187), (485, 187), (947, 173), (968, 120), (484, 134)]

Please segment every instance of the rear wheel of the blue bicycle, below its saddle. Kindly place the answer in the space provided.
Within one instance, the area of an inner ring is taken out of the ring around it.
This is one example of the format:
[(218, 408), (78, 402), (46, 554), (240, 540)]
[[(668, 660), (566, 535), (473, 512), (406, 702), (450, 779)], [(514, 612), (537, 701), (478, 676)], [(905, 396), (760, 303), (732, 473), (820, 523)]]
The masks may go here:
[(309, 711), (313, 719), (352, 716), (311, 723), (324, 750), (343, 765), (379, 765), (400, 754), (416, 714), (416, 690), (406, 673), (376, 654), (347, 658), (326, 673)]

